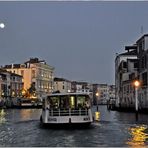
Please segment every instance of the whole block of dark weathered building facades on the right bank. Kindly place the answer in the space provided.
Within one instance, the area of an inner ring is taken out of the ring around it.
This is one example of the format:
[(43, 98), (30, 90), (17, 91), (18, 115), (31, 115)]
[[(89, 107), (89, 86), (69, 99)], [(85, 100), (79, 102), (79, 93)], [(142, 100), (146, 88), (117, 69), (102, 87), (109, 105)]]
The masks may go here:
[(134, 47), (130, 46), (127, 50), (117, 55), (115, 60), (116, 104), (118, 107), (135, 108), (133, 81), (137, 79), (140, 82), (138, 108), (148, 109), (148, 34), (141, 36)]

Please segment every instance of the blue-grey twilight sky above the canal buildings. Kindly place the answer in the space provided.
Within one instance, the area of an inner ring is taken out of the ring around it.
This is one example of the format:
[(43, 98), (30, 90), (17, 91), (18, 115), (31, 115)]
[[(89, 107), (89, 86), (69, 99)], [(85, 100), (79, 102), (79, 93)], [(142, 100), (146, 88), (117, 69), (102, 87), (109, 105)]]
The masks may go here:
[(0, 65), (45, 59), (55, 75), (114, 83), (114, 59), (148, 32), (148, 2), (0, 1)]

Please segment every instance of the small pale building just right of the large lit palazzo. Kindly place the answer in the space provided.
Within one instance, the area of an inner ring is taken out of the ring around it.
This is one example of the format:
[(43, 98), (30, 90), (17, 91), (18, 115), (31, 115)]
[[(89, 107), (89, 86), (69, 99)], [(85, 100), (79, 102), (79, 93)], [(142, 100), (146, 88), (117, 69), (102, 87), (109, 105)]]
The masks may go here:
[(54, 78), (54, 91), (71, 92), (71, 81), (64, 78)]

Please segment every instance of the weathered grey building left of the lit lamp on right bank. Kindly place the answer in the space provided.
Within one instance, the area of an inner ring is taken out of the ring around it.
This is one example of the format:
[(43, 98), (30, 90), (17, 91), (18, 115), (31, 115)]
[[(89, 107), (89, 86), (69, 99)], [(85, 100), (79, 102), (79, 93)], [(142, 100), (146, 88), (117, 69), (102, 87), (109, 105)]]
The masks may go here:
[[(126, 52), (115, 59), (116, 107), (127, 107), (133, 102), (132, 81), (137, 77), (137, 45), (126, 46)], [(130, 90), (130, 91), (129, 91)], [(132, 94), (130, 95), (129, 92)], [(129, 98), (130, 97), (130, 98)]]

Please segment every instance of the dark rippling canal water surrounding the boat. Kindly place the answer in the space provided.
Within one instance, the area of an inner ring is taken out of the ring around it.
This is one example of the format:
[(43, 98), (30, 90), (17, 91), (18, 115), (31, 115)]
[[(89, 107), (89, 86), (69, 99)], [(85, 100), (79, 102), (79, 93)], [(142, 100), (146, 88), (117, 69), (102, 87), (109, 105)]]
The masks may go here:
[[(94, 108), (95, 111), (95, 108)], [(148, 145), (148, 115), (108, 111), (88, 129), (50, 129), (40, 126), (40, 109), (1, 109), (0, 147), (121, 147)]]

